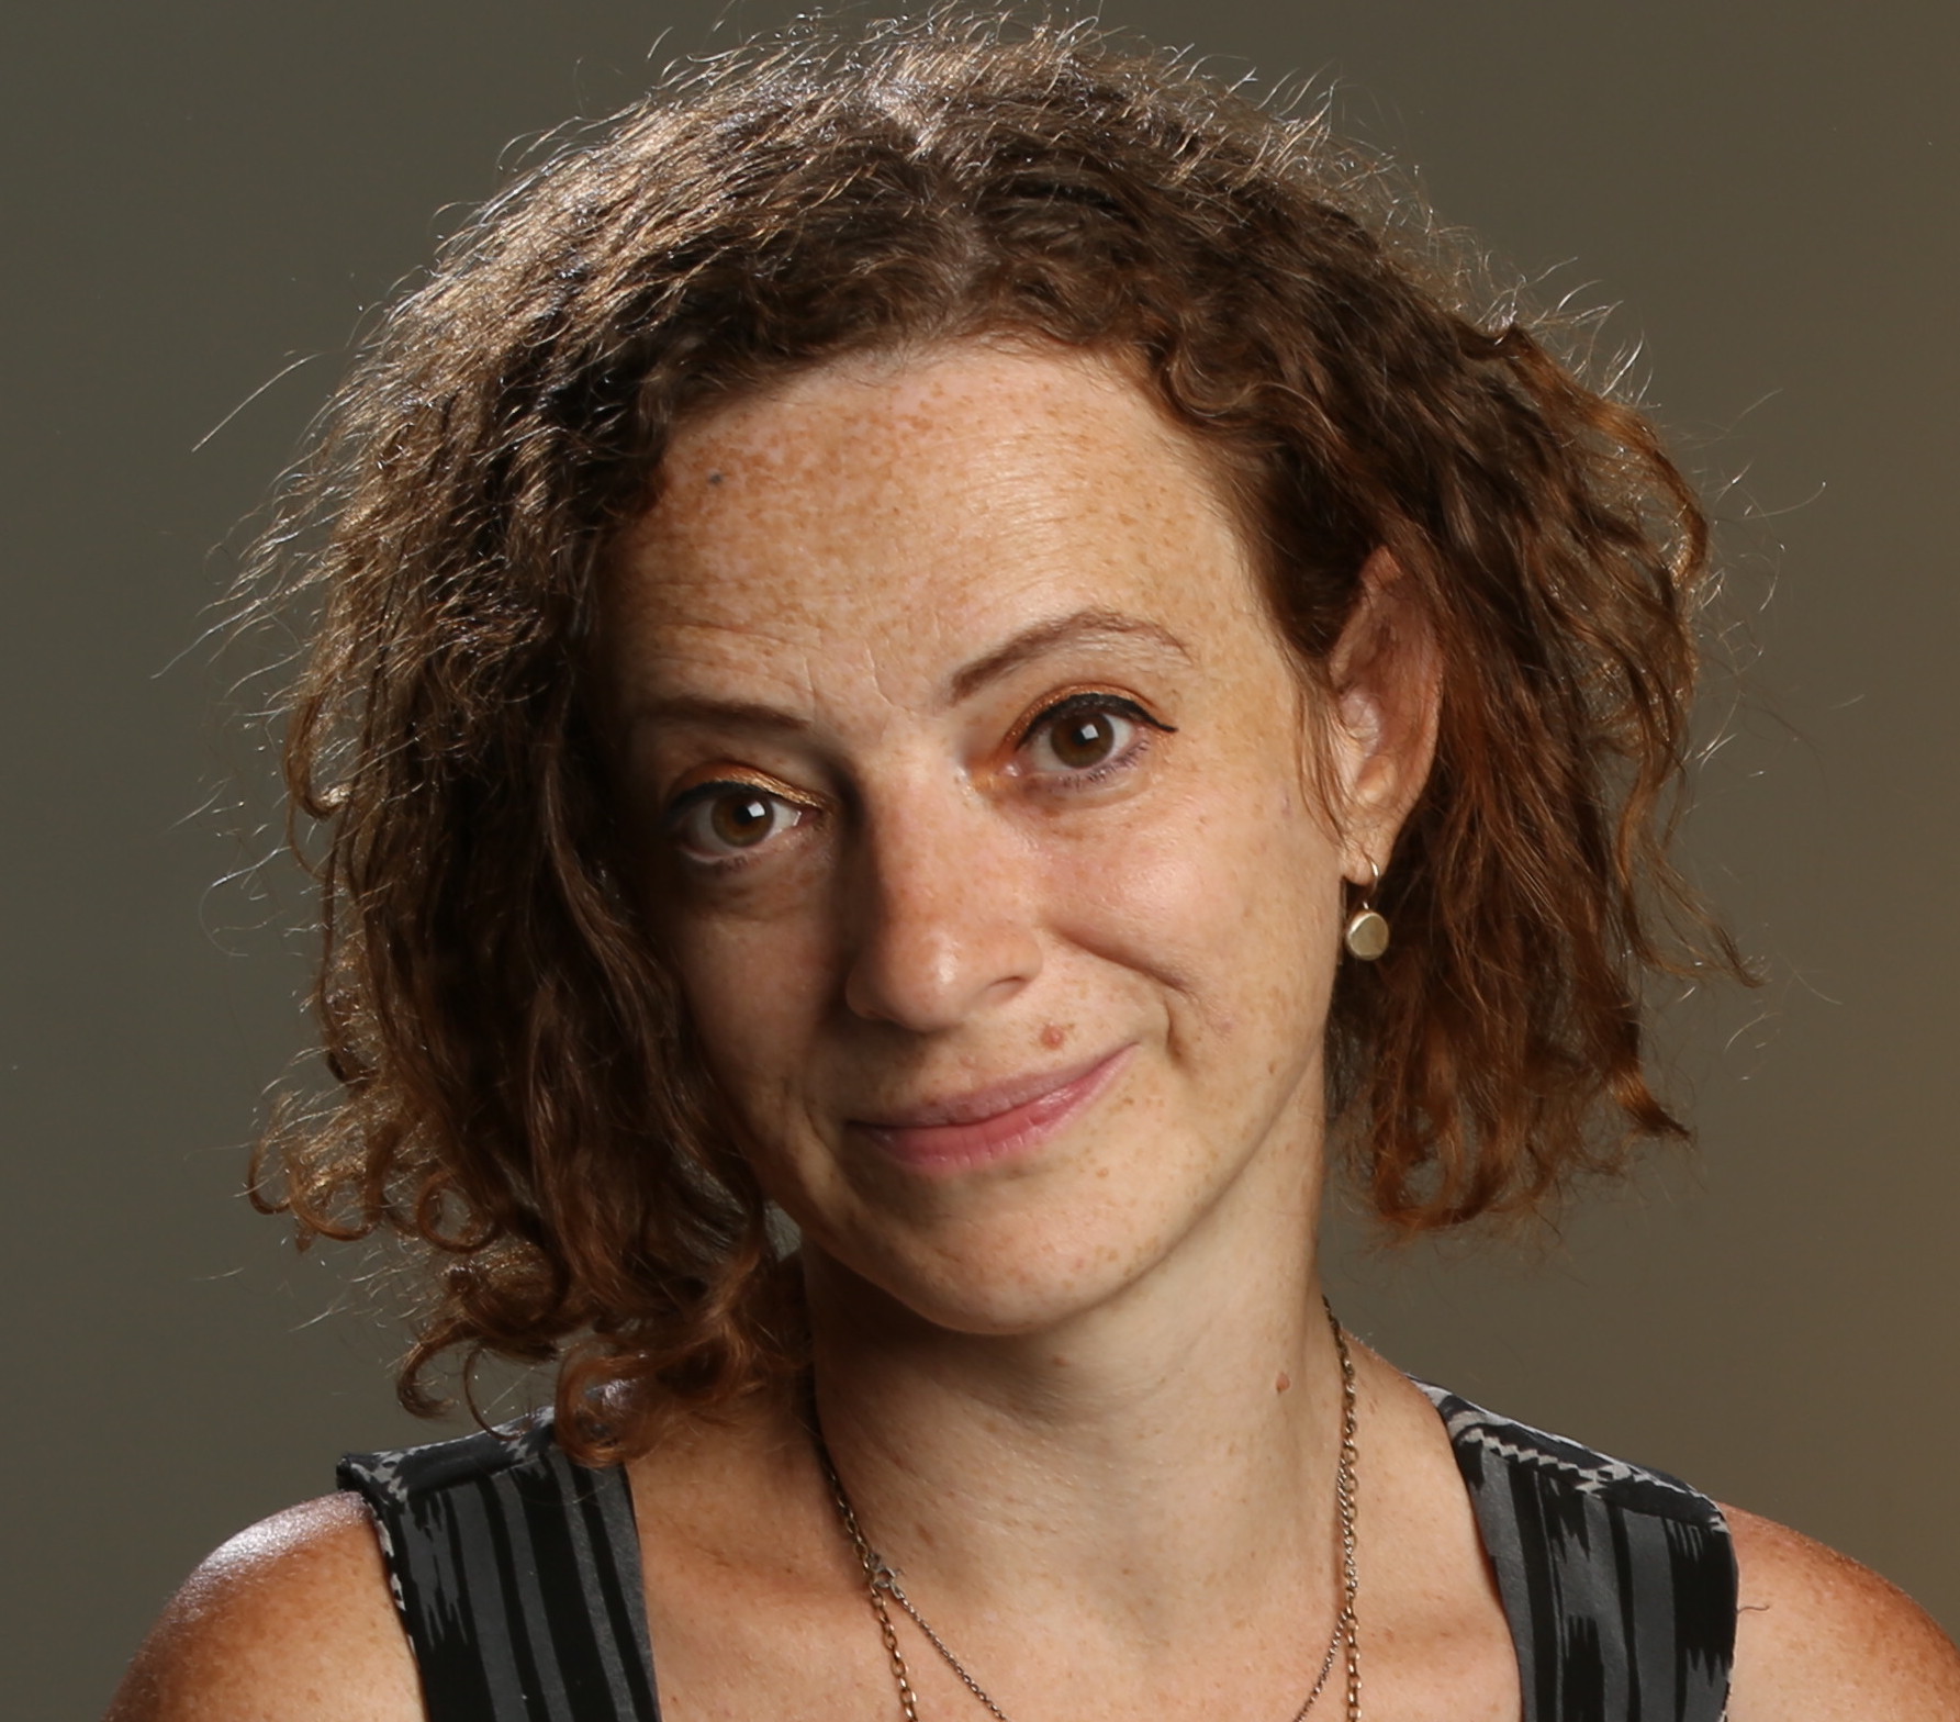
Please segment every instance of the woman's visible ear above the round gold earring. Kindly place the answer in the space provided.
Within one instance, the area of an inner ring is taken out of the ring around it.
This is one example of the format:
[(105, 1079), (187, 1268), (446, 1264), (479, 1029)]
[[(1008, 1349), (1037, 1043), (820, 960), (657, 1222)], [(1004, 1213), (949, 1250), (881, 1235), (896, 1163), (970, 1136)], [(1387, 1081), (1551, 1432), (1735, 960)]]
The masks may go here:
[(1341, 867), (1356, 885), (1386, 873), (1396, 834), (1437, 751), (1443, 661), (1435, 626), (1396, 557), (1360, 571), (1360, 600), (1327, 659)]

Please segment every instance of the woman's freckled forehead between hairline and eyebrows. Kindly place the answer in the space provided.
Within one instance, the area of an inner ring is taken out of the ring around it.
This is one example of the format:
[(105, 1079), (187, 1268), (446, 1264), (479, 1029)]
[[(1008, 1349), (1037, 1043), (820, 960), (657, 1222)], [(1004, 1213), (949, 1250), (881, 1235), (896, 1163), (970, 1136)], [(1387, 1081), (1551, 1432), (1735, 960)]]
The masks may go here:
[(855, 657), (904, 681), (1086, 606), (1180, 637), (1258, 612), (1227, 486), (1117, 361), (966, 343), (684, 426), (608, 608), (643, 673)]

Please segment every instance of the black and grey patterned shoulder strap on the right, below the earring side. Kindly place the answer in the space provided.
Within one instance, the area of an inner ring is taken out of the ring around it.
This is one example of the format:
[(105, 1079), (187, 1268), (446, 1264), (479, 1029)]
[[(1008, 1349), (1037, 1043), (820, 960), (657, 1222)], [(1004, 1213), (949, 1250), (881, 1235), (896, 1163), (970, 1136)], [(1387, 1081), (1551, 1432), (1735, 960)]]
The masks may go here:
[(1721, 1508), (1662, 1471), (1423, 1391), (1497, 1569), (1525, 1722), (1721, 1722), (1737, 1604)]

